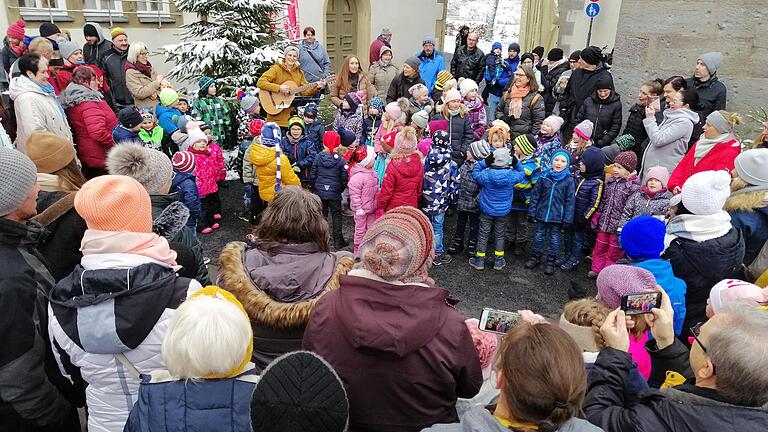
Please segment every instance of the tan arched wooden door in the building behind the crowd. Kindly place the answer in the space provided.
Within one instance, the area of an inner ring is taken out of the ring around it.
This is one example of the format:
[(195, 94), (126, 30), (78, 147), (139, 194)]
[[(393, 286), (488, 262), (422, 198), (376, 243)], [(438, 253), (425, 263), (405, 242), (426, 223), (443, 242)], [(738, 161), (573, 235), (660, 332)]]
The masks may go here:
[[(334, 72), (357, 46), (357, 5), (355, 0), (328, 0), (325, 12), (325, 48)], [(367, 60), (366, 56), (363, 56)]]

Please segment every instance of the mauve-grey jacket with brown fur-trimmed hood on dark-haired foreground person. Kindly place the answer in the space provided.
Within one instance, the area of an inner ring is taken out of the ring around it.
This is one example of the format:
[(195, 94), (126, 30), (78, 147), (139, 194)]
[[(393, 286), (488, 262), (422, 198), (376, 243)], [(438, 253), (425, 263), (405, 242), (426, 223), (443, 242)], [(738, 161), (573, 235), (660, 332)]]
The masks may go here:
[(277, 357), (301, 349), (312, 309), (339, 287), (339, 277), (349, 272), (354, 257), (344, 251), (320, 252), (308, 243), (266, 252), (258, 244), (230, 242), (219, 263), (221, 287), (237, 297), (251, 318), (251, 357), (262, 371)]

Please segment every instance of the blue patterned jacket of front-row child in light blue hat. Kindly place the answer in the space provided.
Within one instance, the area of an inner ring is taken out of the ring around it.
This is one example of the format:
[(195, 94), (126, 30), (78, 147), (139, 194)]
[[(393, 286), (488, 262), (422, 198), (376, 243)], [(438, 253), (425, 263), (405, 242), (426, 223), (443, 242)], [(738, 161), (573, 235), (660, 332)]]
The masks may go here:
[(548, 172), (539, 178), (531, 195), (528, 216), (549, 223), (573, 223), (576, 206), (576, 186), (573, 177), (555, 180)]

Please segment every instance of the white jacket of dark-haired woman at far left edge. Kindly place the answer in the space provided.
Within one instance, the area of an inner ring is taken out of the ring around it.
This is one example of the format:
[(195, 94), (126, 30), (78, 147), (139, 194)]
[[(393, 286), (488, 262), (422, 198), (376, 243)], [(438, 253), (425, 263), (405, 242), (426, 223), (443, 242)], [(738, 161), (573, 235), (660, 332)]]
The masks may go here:
[(64, 108), (56, 96), (40, 89), (26, 76), (11, 79), (10, 95), (16, 112), (16, 148), (26, 151), (27, 139), (34, 131), (46, 131), (72, 141)]

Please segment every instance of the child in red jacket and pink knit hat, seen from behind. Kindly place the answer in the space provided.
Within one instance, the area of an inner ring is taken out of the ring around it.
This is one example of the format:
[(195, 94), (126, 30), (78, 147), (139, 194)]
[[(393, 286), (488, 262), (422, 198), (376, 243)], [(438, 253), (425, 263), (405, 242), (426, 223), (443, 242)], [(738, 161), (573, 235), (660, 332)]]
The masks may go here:
[(377, 199), (378, 208), (389, 211), (399, 206), (419, 206), (424, 166), (416, 151), (416, 130), (406, 126), (397, 133)]

